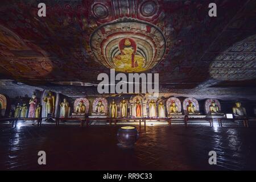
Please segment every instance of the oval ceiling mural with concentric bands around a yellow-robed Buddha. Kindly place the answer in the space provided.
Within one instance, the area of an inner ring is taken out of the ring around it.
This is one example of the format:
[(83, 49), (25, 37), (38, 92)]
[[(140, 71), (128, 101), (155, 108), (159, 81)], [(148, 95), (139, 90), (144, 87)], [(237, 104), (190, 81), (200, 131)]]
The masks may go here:
[[(145, 5), (148, 13), (151, 5)], [(153, 68), (166, 52), (163, 32), (137, 19), (118, 19), (98, 27), (90, 36), (90, 48), (98, 62), (119, 72), (143, 72)]]

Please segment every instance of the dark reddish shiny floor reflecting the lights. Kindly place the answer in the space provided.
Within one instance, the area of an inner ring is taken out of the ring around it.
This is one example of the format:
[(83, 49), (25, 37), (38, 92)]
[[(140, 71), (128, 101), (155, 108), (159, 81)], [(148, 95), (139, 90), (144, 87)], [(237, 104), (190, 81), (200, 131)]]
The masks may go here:
[[(0, 169), (256, 169), (256, 127), (147, 126), (132, 149), (120, 148), (118, 126), (0, 125)], [(47, 165), (38, 165), (38, 151)], [(209, 165), (208, 152), (217, 152)]]

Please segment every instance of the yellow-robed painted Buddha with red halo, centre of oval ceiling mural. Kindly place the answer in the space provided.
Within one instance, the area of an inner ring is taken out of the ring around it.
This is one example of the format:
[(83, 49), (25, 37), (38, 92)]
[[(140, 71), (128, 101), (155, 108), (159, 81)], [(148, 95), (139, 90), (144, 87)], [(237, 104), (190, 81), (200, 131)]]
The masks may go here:
[(113, 62), (117, 71), (136, 72), (142, 71), (145, 59), (137, 55), (137, 44), (131, 38), (125, 38), (119, 42), (121, 54), (113, 57)]

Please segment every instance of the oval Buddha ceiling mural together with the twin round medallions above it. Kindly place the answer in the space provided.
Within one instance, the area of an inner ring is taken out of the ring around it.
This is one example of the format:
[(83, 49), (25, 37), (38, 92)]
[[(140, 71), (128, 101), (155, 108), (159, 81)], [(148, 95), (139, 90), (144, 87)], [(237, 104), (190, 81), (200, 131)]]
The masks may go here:
[[(139, 11), (134, 11), (136, 6)], [(167, 46), (162, 31), (165, 28), (155, 26), (160, 21), (158, 2), (113, 1), (113, 9), (110, 9), (104, 3), (92, 6), (93, 15), (104, 21), (90, 36), (90, 48), (96, 61), (121, 72), (153, 68), (163, 59)], [(113, 20), (113, 16), (118, 19)]]

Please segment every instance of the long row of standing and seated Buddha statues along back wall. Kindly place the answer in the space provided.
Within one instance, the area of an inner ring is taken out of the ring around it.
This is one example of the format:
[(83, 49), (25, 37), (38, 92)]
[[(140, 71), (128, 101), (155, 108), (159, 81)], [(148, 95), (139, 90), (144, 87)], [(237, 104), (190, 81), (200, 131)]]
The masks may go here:
[[(73, 112), (67, 98), (56, 104), (56, 96), (51, 91), (42, 97), (44, 117), (52, 116), (55, 113), (56, 105), (59, 107), (59, 117), (84, 117), (90, 115), (93, 117), (110, 117), (110, 118), (127, 118), (127, 117), (149, 117), (149, 118), (166, 118), (173, 115), (201, 115), (199, 111), (199, 103), (195, 98), (185, 98), (183, 101), (183, 113), (181, 112), (181, 102), (177, 97), (170, 97), (166, 104), (163, 100), (143, 100), (141, 97), (133, 97), (129, 102), (124, 98), (117, 104), (114, 100), (108, 101), (104, 97), (96, 98), (89, 109), (89, 101), (85, 97), (77, 98), (73, 104)], [(36, 95), (32, 95), (30, 101), (18, 105), (15, 108), (14, 117), (21, 118), (38, 118), (41, 115), (42, 106)], [(119, 109), (118, 109), (119, 107)], [(129, 111), (129, 113), (128, 113)], [(221, 112), (220, 102), (216, 99), (208, 99), (205, 101), (205, 114), (207, 115), (224, 115)], [(240, 102), (236, 102), (233, 107), (235, 117), (246, 115), (246, 110), (241, 106)]]

